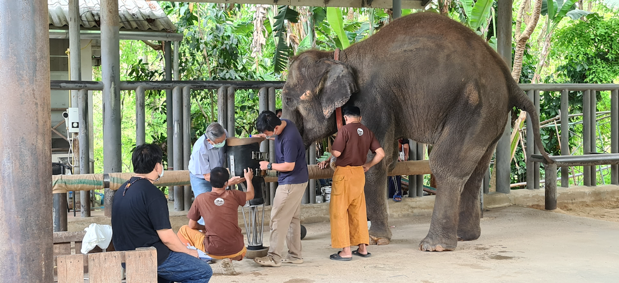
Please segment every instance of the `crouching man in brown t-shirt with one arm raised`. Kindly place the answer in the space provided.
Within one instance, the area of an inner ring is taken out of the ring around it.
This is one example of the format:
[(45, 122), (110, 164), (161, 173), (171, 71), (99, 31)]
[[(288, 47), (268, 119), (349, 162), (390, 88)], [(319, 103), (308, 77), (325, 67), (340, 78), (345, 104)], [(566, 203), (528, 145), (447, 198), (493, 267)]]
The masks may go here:
[[(243, 234), (238, 227), (238, 206), (254, 198), (254, 186), (251, 169), (243, 170), (247, 182), (247, 193), (236, 189), (226, 189), (230, 174), (223, 167), (216, 167), (210, 172), (213, 190), (196, 197), (187, 218), (189, 225), (178, 230), (178, 238), (185, 245), (195, 246), (211, 258), (222, 259), (224, 274), (236, 275), (232, 260), (240, 261), (247, 248)], [(202, 217), (204, 225), (197, 223)]]

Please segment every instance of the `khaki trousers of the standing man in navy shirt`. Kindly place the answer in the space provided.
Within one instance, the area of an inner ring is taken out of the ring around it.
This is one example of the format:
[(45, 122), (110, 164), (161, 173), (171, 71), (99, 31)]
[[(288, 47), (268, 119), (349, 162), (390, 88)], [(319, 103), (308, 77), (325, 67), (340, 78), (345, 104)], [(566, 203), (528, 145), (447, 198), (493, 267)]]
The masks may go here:
[(271, 208), (271, 238), (269, 256), (275, 263), (282, 261), (284, 240), (288, 246), (288, 258), (301, 257), (301, 199), (308, 182), (277, 186)]

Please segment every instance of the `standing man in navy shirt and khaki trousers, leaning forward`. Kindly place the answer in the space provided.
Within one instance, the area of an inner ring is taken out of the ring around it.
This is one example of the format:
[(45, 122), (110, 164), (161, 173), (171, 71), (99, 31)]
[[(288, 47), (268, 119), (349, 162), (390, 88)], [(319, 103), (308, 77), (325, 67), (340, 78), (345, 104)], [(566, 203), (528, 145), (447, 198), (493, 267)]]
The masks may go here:
[[(264, 111), (256, 120), (257, 136), (275, 138), (275, 162), (260, 162), (261, 170), (279, 172), (277, 190), (271, 209), (271, 247), (269, 253), (254, 261), (262, 266), (278, 267), (282, 263), (303, 263), (301, 256), (301, 199), (308, 185), (308, 166), (303, 139), (295, 123)], [(288, 255), (282, 256), (284, 240)]]

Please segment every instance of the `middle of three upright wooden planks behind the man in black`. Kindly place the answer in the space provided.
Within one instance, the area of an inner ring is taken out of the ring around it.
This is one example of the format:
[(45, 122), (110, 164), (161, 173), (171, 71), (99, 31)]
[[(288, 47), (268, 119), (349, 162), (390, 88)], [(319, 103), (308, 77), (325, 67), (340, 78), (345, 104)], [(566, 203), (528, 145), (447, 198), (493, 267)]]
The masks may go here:
[(118, 283), (121, 281), (121, 253), (90, 253), (88, 255), (89, 283)]

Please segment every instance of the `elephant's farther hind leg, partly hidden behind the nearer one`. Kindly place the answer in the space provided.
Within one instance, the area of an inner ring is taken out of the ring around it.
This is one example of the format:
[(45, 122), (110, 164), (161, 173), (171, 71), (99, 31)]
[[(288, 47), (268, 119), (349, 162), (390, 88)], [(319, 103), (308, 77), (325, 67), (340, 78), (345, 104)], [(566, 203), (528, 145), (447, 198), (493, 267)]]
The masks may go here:
[(488, 147), (488, 150), (479, 160), (475, 171), (470, 175), (469, 180), (464, 185), (460, 194), (460, 207), (458, 217), (458, 240), (470, 241), (477, 240), (482, 230), (479, 226), (480, 203), (479, 194), (482, 186), (483, 176), (488, 170), (488, 164), (495, 151), (496, 144)]

